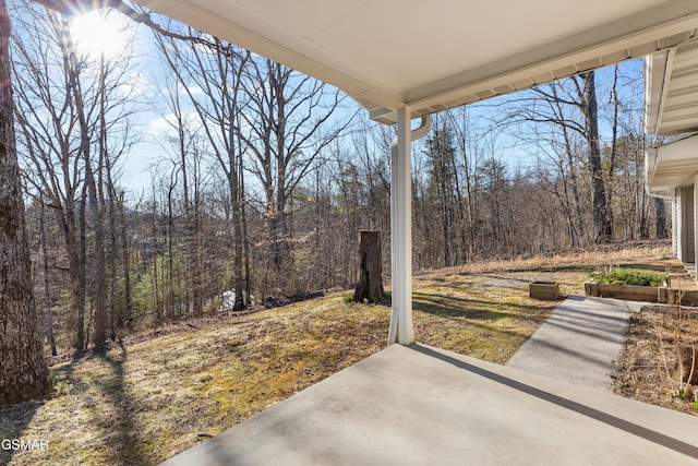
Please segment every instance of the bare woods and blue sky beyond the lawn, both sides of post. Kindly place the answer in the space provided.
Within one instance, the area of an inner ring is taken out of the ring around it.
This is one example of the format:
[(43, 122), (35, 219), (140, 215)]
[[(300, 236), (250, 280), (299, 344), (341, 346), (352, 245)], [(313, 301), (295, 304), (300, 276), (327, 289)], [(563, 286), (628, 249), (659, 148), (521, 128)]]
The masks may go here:
[[(351, 288), (360, 229), (382, 232), (390, 272), (395, 131), (341, 92), (165, 19), (147, 57), (91, 57), (59, 13), (16, 0), (10, 14), (53, 354)], [(141, 93), (143, 73), (157, 93)], [(666, 238), (666, 202), (645, 189), (642, 85), (641, 64), (621, 63), (434, 116), (413, 147), (414, 267)], [(149, 135), (152, 181), (134, 192), (121, 180), (146, 108), (167, 130)]]

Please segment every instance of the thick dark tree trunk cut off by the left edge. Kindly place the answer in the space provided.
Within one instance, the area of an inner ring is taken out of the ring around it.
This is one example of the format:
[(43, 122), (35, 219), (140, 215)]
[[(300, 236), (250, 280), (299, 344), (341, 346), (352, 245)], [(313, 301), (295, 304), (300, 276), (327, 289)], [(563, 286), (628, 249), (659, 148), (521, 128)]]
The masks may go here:
[(39, 337), (14, 141), (10, 19), (0, 0), (0, 406), (50, 390)]

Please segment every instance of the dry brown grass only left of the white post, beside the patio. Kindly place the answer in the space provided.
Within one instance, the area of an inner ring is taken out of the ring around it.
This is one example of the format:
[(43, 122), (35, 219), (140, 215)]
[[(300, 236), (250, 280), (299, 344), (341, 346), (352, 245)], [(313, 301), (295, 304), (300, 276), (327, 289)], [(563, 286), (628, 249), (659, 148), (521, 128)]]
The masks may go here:
[(377, 351), (388, 314), (334, 296), (67, 361), (61, 393), (3, 411), (26, 428), (0, 438), (50, 441), (12, 464), (157, 464)]

